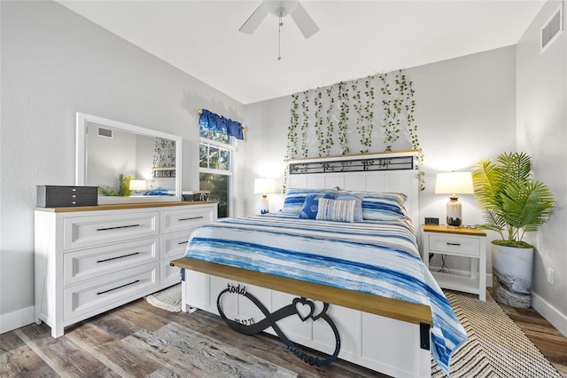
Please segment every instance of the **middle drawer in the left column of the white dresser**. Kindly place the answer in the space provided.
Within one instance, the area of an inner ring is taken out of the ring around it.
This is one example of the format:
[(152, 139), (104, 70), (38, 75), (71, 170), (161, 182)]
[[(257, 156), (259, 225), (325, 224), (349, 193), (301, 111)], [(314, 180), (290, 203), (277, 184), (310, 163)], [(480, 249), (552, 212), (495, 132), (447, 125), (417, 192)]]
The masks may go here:
[(95, 279), (113, 272), (158, 261), (159, 238), (67, 252), (63, 256), (63, 284)]

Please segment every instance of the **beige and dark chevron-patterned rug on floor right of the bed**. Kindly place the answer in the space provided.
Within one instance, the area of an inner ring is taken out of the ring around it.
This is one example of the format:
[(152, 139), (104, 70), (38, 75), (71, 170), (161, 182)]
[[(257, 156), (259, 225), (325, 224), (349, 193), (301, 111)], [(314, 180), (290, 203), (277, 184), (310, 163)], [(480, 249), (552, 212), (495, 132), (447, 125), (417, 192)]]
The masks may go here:
[[(478, 295), (445, 294), (469, 335), (451, 358), (451, 378), (562, 377), (491, 295), (481, 302)], [(446, 376), (431, 360), (431, 377)]]

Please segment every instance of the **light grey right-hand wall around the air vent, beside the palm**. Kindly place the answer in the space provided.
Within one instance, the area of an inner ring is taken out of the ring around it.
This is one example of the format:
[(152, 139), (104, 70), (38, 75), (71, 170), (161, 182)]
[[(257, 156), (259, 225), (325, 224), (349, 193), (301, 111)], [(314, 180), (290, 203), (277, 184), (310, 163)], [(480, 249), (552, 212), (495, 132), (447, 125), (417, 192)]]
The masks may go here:
[[(532, 155), (534, 176), (551, 188), (557, 203), (549, 223), (531, 235), (532, 306), (567, 335), (567, 33), (540, 53), (540, 28), (560, 6), (545, 4), (517, 43), (517, 147)], [(549, 268), (554, 284), (547, 280)]]

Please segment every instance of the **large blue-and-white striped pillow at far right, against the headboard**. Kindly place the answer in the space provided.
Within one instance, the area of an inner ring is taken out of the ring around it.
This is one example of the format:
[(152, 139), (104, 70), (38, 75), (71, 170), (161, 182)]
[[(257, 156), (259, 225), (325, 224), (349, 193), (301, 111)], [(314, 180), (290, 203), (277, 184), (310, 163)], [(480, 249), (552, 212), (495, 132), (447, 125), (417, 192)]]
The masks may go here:
[(362, 196), (362, 217), (366, 220), (391, 220), (408, 218), (403, 193), (351, 192)]

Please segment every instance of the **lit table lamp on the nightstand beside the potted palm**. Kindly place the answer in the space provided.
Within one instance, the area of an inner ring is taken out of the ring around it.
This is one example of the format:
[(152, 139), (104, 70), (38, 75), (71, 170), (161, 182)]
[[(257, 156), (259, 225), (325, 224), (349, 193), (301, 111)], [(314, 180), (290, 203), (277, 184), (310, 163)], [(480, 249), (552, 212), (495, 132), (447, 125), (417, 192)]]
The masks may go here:
[(451, 194), (447, 202), (447, 225), (460, 227), (462, 224), (462, 204), (457, 194), (475, 193), (470, 172), (438, 173), (435, 181), (436, 194)]

